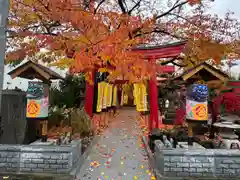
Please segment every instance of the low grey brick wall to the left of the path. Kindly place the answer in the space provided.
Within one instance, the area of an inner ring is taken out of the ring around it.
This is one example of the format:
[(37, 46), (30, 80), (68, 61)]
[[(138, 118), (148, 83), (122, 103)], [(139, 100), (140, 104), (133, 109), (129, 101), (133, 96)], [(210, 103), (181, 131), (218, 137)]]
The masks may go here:
[(69, 174), (79, 164), (81, 141), (70, 145), (1, 145), (0, 173)]

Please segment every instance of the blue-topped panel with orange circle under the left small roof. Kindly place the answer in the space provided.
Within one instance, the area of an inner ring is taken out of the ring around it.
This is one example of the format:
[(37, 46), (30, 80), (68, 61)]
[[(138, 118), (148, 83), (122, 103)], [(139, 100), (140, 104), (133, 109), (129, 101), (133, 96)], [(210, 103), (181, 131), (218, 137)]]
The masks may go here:
[(27, 89), (27, 118), (48, 117), (49, 86), (41, 82), (29, 82)]

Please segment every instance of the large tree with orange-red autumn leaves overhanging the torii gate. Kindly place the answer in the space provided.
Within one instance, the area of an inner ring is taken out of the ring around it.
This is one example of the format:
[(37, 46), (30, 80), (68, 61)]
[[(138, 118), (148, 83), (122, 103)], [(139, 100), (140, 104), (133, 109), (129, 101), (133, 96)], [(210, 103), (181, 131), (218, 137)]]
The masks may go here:
[(230, 14), (225, 19), (207, 14), (210, 1), (11, 0), (6, 63), (28, 57), (73, 73), (110, 63), (111, 78), (124, 74), (135, 81), (151, 72), (131, 50), (141, 44), (186, 40), (181, 65), (235, 58), (238, 21)]

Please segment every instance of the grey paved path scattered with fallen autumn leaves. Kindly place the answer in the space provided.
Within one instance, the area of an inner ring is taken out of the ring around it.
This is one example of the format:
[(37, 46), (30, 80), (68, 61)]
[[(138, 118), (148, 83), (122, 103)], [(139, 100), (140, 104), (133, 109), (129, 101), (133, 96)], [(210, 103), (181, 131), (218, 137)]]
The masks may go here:
[(142, 146), (136, 111), (123, 109), (90, 152), (79, 180), (155, 180)]

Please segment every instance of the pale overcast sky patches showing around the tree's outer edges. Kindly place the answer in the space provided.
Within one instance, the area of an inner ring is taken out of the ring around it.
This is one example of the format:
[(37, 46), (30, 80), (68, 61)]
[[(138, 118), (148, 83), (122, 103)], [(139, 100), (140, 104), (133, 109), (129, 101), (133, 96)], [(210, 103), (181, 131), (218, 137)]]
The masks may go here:
[[(209, 10), (211, 13), (218, 14), (220, 16), (224, 16), (226, 12), (233, 11), (235, 13), (235, 16), (240, 19), (240, 0), (215, 0), (215, 2), (212, 4), (211, 9)], [(239, 63), (240, 64), (240, 63)], [(232, 68), (232, 73), (237, 75), (239, 72), (240, 65), (235, 66)], [(14, 80), (11, 79), (10, 76), (7, 75), (7, 73), (11, 69), (8, 67), (5, 67), (5, 76), (4, 76), (4, 85), (3, 88), (14, 88), (17, 86), (18, 88), (21, 88), (23, 90), (26, 90), (28, 82), (27, 80), (21, 79), (21, 78), (15, 78)], [(61, 75), (64, 75), (59, 70), (56, 70), (58, 73), (61, 73)]]

